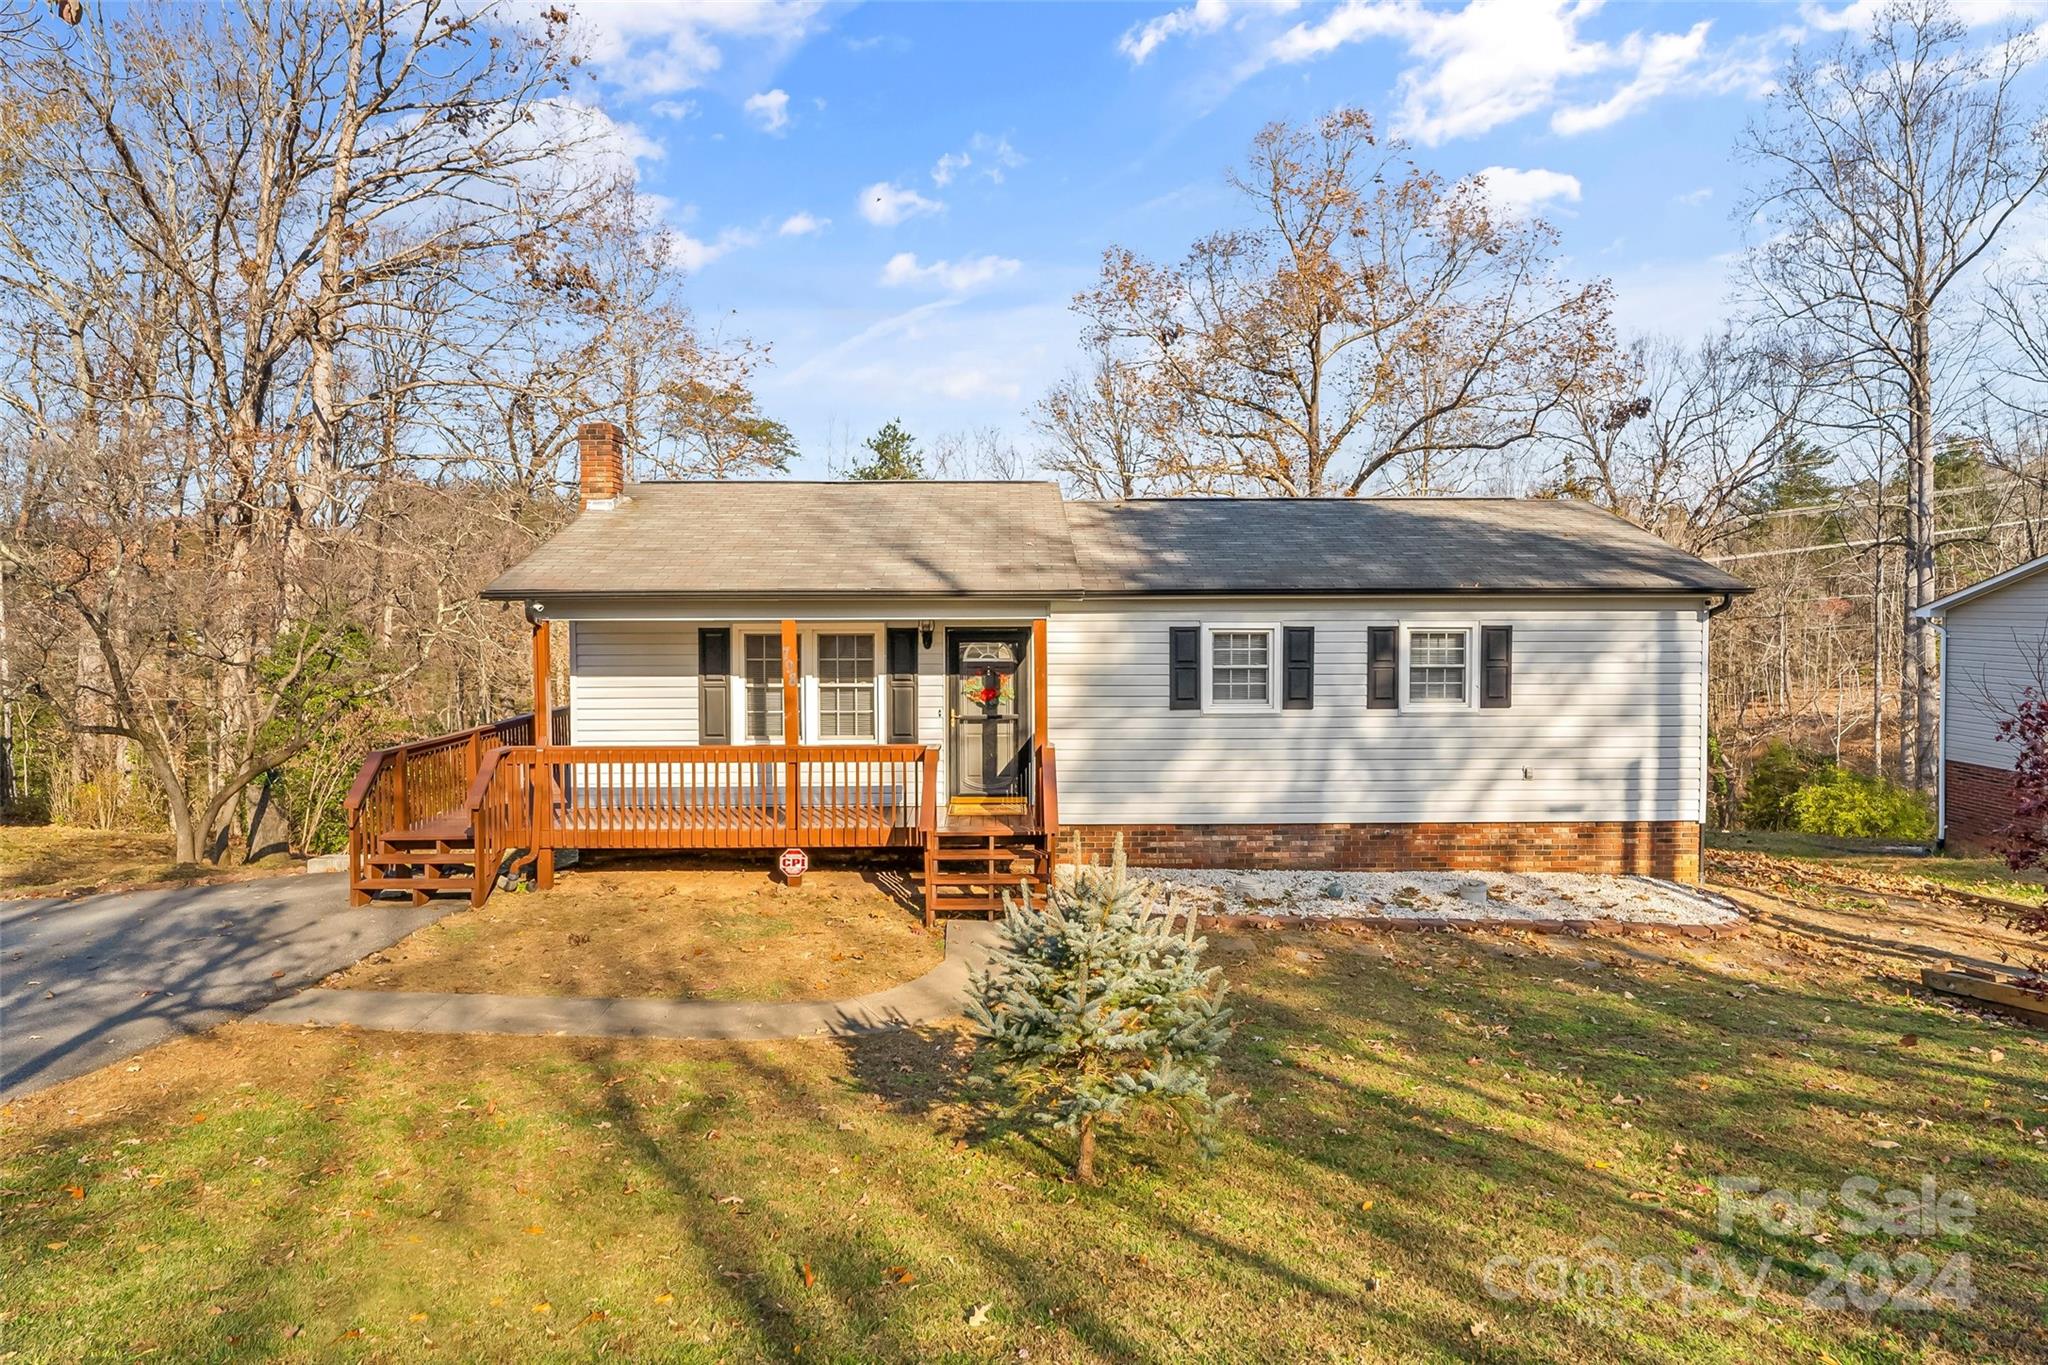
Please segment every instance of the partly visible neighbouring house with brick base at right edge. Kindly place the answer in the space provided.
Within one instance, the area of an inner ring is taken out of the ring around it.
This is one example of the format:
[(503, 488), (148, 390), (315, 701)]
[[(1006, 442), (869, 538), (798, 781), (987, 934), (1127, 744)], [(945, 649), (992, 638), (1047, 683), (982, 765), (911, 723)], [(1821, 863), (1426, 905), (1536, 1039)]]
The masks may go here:
[(1929, 602), (1942, 628), (1939, 839), (1995, 847), (2013, 823), (2019, 751), (1999, 724), (2028, 688), (2048, 692), (2048, 555)]

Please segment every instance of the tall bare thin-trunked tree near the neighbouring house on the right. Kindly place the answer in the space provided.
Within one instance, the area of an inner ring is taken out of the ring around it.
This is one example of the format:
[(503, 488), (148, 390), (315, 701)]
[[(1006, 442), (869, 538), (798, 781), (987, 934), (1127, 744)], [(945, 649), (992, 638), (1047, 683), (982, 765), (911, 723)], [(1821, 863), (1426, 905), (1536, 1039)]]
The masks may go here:
[(1942, 0), (1878, 12), (1864, 41), (1794, 53), (1743, 151), (1765, 174), (1751, 278), (1778, 319), (1847, 368), (1892, 377), (1907, 426), (1911, 774), (1931, 784), (1935, 639), (1911, 616), (1935, 583), (1939, 364), (1972, 272), (2048, 180), (2021, 76), (2036, 41), (1980, 47)]

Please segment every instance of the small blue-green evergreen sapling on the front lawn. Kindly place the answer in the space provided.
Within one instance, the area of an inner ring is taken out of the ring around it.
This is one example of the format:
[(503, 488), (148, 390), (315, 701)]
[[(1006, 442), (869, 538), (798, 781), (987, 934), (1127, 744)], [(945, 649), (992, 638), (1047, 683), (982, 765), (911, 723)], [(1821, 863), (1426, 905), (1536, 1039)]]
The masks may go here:
[(1223, 1101), (1208, 1093), (1231, 1036), (1208, 939), (1151, 882), (1075, 860), (1042, 905), (1004, 894), (1004, 941), (973, 978), (967, 1015), (1016, 1111), (1077, 1136), (1073, 1173), (1096, 1179), (1096, 1124), (1163, 1103), (1208, 1152)]

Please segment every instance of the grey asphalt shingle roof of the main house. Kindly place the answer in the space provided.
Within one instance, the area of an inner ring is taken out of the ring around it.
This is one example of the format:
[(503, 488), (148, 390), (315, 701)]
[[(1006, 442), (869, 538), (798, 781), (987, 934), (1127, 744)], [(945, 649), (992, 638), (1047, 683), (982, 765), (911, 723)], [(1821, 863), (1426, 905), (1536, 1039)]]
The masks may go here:
[(1657, 593), (1741, 579), (1589, 503), (1061, 501), (1051, 483), (637, 483), (485, 598)]

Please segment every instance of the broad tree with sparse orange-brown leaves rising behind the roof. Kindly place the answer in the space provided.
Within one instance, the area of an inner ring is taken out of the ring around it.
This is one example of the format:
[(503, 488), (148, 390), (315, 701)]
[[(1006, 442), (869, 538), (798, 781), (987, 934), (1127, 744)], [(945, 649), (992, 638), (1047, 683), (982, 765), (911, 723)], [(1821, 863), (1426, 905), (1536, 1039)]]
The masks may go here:
[(1544, 223), (1415, 166), (1360, 111), (1266, 127), (1231, 184), (1253, 225), (1174, 266), (1112, 248), (1075, 299), (1204, 479), (1315, 497), (1397, 471), (1438, 489), (1532, 438), (1612, 348), (1608, 287), (1559, 280)]

